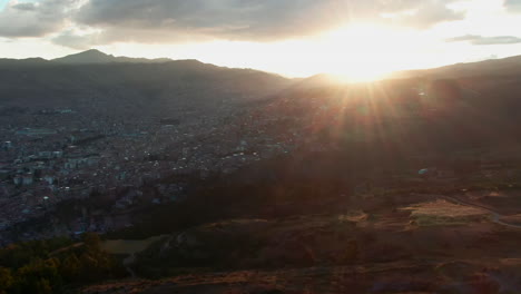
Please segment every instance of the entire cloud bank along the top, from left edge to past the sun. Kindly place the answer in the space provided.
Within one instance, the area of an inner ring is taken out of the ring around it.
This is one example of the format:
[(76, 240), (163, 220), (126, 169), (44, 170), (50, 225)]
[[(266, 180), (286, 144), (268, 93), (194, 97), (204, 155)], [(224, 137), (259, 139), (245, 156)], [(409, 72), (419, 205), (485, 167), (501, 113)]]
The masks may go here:
[(56, 33), (52, 42), (76, 49), (112, 42), (263, 42), (312, 36), (355, 20), (425, 29), (462, 19), (463, 13), (448, 7), (455, 1), (11, 0), (0, 11), (0, 37)]

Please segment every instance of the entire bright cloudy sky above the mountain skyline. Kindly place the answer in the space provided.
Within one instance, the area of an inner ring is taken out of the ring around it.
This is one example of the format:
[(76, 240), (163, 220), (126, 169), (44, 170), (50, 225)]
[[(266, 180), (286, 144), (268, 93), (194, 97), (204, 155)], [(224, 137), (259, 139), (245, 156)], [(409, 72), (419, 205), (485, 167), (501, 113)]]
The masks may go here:
[(521, 55), (521, 0), (0, 0), (0, 57), (90, 48), (368, 79)]

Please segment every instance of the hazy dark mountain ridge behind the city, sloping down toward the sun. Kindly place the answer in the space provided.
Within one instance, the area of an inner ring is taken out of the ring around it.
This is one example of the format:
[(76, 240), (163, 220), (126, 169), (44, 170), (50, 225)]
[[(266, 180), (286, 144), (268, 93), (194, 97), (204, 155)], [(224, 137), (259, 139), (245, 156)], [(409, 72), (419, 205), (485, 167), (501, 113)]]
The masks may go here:
[[(125, 61), (128, 60), (128, 61)], [(124, 111), (177, 111), (179, 105), (215, 109), (256, 101), (293, 81), (252, 69), (233, 69), (197, 60), (132, 59), (89, 50), (58, 60), (0, 59), (0, 107), (70, 107)]]

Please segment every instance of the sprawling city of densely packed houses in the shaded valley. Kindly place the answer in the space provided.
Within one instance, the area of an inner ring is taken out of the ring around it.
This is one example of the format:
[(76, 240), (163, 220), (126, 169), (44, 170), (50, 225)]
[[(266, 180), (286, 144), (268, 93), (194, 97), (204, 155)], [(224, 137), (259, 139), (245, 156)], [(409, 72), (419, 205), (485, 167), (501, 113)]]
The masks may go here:
[(289, 153), (299, 135), (287, 124), (273, 131), (281, 119), (227, 104), (217, 110), (177, 110), (169, 116), (129, 117), (125, 111), (108, 115), (89, 108), (19, 114), (0, 127), (0, 231), (49, 214), (66, 199), (92, 195), (110, 199), (108, 207), (87, 212), (63, 229), (128, 226), (125, 213), (144, 203), (185, 197), (186, 183), (158, 184), (160, 179), (184, 175), (204, 179)]

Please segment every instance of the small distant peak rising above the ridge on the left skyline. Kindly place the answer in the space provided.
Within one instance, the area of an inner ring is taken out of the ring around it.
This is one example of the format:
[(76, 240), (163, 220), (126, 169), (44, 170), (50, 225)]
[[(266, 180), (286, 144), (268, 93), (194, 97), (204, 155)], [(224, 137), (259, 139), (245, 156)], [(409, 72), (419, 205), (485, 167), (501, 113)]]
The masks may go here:
[(92, 63), (111, 63), (111, 62), (128, 62), (128, 63), (161, 63), (171, 61), (168, 58), (146, 59), (146, 58), (130, 58), (130, 57), (115, 57), (112, 55), (104, 53), (99, 50), (91, 49), (76, 55), (52, 59), (53, 62), (68, 63), (68, 65), (92, 65)]

